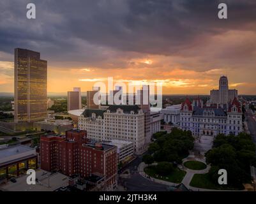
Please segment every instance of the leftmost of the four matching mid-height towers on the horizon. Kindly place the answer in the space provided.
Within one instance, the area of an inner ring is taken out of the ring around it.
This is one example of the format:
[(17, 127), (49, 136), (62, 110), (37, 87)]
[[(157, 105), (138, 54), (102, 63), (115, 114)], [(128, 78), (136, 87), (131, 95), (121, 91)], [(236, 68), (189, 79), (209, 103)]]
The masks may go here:
[(73, 91), (68, 91), (68, 111), (82, 108), (81, 91), (79, 87), (74, 87)]

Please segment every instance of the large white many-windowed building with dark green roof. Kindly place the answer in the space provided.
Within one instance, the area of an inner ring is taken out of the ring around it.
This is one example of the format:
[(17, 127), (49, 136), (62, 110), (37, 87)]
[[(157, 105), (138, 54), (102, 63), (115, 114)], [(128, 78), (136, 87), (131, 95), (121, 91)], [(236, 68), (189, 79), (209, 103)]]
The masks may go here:
[(79, 129), (93, 140), (133, 142), (136, 154), (146, 150), (144, 113), (137, 105), (110, 105), (107, 110), (86, 109), (79, 117)]

